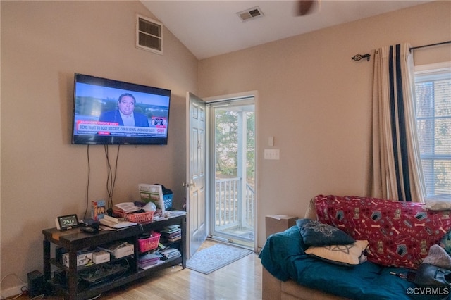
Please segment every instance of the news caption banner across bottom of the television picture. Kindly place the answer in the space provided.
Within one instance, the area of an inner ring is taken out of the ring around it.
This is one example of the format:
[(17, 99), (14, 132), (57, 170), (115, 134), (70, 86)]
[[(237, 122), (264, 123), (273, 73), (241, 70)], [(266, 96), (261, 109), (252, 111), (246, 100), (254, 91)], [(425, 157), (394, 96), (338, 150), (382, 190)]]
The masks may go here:
[(112, 122), (97, 122), (78, 120), (76, 124), (78, 134), (97, 135), (166, 135), (165, 125), (152, 125), (152, 127), (121, 126)]

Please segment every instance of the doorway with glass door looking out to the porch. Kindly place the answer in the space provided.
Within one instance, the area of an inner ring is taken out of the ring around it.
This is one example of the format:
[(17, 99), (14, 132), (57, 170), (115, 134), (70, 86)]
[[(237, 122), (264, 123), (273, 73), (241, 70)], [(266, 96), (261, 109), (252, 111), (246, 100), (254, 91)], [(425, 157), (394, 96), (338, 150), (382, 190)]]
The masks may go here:
[(207, 111), (209, 236), (254, 250), (255, 97), (249, 94), (207, 101)]

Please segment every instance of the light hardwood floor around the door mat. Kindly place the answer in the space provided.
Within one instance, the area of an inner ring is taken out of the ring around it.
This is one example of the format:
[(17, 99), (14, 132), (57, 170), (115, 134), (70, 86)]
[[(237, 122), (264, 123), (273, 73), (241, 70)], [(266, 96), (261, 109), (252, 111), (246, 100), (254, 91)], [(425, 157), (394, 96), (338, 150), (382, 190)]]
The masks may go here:
[[(214, 244), (206, 241), (199, 250)], [(261, 299), (261, 262), (257, 254), (249, 254), (209, 275), (176, 266), (113, 289), (99, 299), (257, 300)]]

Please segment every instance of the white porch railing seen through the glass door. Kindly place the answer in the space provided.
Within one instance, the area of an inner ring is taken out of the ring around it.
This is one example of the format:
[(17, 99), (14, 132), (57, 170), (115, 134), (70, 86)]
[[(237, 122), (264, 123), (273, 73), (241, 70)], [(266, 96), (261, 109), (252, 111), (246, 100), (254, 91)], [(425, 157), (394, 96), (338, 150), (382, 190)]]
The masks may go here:
[(246, 183), (243, 194), (240, 177), (216, 178), (215, 189), (215, 230), (226, 230), (230, 227), (253, 229), (254, 189)]

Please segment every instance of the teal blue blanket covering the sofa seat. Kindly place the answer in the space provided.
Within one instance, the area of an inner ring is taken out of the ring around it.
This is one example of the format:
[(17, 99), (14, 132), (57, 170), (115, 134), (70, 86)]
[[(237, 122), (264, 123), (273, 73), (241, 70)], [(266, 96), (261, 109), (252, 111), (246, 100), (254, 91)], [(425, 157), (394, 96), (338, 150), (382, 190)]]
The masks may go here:
[(349, 299), (450, 299), (447, 294), (426, 295), (413, 282), (391, 275), (407, 269), (388, 268), (366, 261), (353, 267), (335, 265), (304, 253), (299, 228), (271, 235), (259, 254), (261, 264), (278, 280), (295, 280), (300, 285)]

